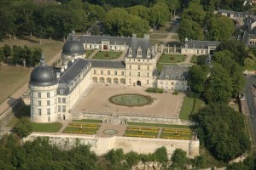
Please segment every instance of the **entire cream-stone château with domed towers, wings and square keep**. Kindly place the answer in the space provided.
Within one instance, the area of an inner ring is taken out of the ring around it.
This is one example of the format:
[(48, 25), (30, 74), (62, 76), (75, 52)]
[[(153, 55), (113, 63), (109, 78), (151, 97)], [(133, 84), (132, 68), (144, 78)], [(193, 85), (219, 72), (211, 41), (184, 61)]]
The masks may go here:
[[(84, 59), (85, 49), (122, 51), (125, 56), (124, 59), (115, 60)], [(180, 69), (179, 76), (174, 76), (175, 81), (170, 82), (170, 86), (162, 86), (162, 83), (171, 81), (170, 76), (163, 82), (171, 70), (165, 67), (165, 72), (160, 74), (159, 79), (156, 55), (156, 50), (150, 45), (147, 35), (143, 38), (137, 38), (136, 35), (71, 38), (63, 46), (61, 67), (50, 68), (45, 64), (42, 55), (41, 64), (31, 73), (29, 88), (32, 122), (72, 119), (70, 111), (92, 83), (186, 90), (185, 77), (181, 75), (188, 69)], [(172, 71), (177, 67), (179, 66), (173, 66)], [(182, 86), (177, 86), (180, 83)]]

